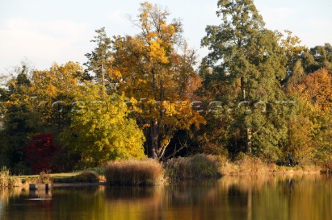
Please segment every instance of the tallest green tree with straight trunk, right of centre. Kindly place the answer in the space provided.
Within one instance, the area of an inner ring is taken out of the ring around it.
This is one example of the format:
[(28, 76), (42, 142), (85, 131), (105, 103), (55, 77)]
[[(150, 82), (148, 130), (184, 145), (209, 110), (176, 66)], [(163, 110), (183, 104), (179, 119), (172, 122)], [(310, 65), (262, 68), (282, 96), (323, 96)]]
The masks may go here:
[(287, 136), (278, 114), (285, 99), (279, 84), (286, 77), (285, 54), (252, 0), (219, 0), (218, 7), (221, 24), (207, 26), (202, 40), (210, 50), (201, 65), (205, 90), (219, 90), (214, 98), (231, 110), (220, 114), (232, 112), (222, 121), (231, 125), (229, 150), (238, 152), (244, 144), (246, 152), (277, 159)]

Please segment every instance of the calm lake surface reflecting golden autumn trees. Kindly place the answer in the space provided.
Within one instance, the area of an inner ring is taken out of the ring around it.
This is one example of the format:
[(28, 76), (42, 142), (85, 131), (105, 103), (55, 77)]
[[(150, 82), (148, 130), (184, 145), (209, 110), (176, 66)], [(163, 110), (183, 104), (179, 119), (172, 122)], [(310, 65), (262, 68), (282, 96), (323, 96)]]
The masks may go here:
[(0, 191), (3, 220), (332, 219), (332, 177), (223, 177), (153, 188)]

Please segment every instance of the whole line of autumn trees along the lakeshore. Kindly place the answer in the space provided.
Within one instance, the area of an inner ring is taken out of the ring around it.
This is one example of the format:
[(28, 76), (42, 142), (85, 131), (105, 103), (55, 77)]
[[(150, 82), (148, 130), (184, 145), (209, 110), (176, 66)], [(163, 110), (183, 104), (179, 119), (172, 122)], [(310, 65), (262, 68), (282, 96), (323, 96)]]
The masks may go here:
[(197, 59), (181, 21), (140, 3), (136, 35), (95, 31), (87, 62), (15, 69), (0, 88), (0, 161), (16, 173), (204, 152), (332, 163), (332, 46), (265, 28), (252, 0), (219, 0)]

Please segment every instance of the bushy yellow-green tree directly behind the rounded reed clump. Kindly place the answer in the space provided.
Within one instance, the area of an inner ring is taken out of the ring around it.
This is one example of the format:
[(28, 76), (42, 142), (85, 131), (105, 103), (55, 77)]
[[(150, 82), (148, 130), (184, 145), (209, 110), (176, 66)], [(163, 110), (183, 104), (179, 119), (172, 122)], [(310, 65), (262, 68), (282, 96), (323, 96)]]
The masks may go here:
[(80, 154), (83, 166), (144, 158), (144, 134), (136, 121), (127, 118), (125, 97), (102, 95), (100, 88), (88, 83), (83, 92), (75, 93), (71, 125), (60, 134), (63, 146)]

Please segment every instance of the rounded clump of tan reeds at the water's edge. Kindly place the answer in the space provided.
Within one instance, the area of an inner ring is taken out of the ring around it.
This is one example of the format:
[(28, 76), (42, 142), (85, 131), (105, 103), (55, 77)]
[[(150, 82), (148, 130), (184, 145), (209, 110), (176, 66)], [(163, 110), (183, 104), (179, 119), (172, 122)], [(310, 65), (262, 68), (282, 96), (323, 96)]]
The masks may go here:
[(107, 183), (118, 186), (153, 186), (164, 178), (163, 166), (154, 159), (110, 162), (105, 169)]

